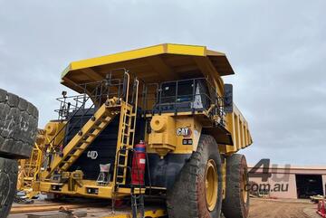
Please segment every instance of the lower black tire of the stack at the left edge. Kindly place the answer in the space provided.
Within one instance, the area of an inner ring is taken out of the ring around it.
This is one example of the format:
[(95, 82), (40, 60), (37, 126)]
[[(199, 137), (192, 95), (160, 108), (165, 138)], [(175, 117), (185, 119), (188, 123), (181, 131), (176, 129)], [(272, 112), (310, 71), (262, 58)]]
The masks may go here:
[(17, 161), (0, 157), (0, 218), (5, 218), (14, 200), (17, 185)]

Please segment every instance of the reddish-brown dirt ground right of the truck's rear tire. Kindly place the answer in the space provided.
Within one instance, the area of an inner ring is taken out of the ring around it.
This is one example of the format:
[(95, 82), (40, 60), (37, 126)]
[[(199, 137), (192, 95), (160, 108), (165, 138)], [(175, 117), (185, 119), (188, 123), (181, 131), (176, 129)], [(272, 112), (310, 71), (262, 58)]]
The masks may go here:
[(309, 201), (250, 200), (250, 218), (321, 218), (316, 214), (317, 205)]

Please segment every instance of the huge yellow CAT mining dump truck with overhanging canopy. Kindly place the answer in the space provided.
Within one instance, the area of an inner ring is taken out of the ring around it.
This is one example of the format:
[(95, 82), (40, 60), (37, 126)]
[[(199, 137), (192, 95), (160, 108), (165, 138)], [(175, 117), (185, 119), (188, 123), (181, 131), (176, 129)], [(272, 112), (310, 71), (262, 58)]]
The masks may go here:
[(170, 218), (248, 217), (246, 160), (235, 153), (252, 138), (222, 79), (231, 74), (224, 53), (181, 44), (72, 62), (62, 84), (78, 94), (62, 91), (58, 118), (39, 132), (29, 185), (130, 198), (134, 217), (149, 195)]

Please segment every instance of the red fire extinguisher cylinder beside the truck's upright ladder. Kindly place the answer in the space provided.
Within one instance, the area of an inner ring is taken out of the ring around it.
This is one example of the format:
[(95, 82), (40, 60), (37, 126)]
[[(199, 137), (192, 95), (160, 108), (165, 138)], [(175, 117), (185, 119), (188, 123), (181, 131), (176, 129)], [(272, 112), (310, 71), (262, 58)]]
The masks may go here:
[(146, 167), (146, 145), (140, 140), (139, 144), (134, 147), (131, 167), (131, 184), (145, 185), (145, 167)]

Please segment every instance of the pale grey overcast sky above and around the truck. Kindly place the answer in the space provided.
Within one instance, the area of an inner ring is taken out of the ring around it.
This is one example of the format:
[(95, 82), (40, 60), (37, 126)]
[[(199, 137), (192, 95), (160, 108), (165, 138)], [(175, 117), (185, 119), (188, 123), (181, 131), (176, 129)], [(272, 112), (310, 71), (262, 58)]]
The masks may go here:
[(69, 62), (158, 43), (225, 52), (251, 164), (326, 165), (326, 1), (0, 0), (0, 88), (56, 118)]

